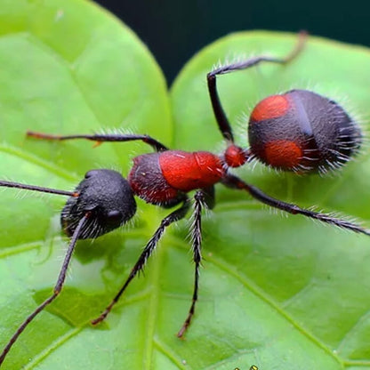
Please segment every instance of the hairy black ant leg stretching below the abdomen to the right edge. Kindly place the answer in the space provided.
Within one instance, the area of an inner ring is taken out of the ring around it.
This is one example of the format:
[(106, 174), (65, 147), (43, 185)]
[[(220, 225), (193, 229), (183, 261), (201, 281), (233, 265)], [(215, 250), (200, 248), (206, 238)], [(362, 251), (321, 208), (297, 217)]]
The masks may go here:
[(301, 208), (298, 205), (286, 203), (274, 197), (269, 197), (260, 189), (254, 187), (253, 185), (247, 184), (246, 182), (239, 179), (237, 176), (228, 174), (227, 177), (222, 181), (222, 183), (232, 189), (246, 190), (252, 197), (259, 200), (261, 203), (264, 203), (265, 205), (270, 205), (271, 207), (280, 209), (287, 213), (302, 214), (303, 216), (309, 217), (311, 219), (326, 222), (342, 229), (349, 229), (351, 231), (370, 236), (370, 230), (364, 229), (356, 223), (333, 217), (332, 215), (327, 213), (313, 212), (308, 209)]

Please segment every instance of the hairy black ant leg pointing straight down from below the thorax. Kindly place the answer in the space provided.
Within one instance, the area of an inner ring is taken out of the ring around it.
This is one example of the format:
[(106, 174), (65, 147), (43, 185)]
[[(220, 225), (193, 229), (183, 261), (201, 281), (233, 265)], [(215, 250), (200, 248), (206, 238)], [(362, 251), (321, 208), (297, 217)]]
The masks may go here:
[[(213, 197), (212, 194), (210, 194), (208, 188), (205, 190), (197, 190), (196, 195), (194, 196), (195, 199), (195, 205), (194, 205), (194, 213), (193, 213), (193, 225), (192, 225), (192, 250), (193, 250), (193, 260), (195, 262), (195, 273), (194, 273), (194, 291), (193, 291), (193, 297), (192, 297), (192, 302), (191, 306), (189, 309), (188, 317), (184, 321), (183, 325), (181, 326), (181, 329), (179, 330), (179, 333), (177, 334), (178, 338), (182, 338), (182, 336), (185, 334), (187, 331), (191, 319), (194, 316), (195, 312), (195, 307), (197, 303), (197, 291), (198, 291), (198, 286), (199, 286), (199, 267), (200, 267), (200, 262), (202, 261), (202, 254), (201, 254), (201, 245), (202, 245), (202, 206), (205, 203), (205, 205), (213, 205), (214, 201), (211, 200), (211, 197)], [(210, 197), (211, 196), (211, 197)]]

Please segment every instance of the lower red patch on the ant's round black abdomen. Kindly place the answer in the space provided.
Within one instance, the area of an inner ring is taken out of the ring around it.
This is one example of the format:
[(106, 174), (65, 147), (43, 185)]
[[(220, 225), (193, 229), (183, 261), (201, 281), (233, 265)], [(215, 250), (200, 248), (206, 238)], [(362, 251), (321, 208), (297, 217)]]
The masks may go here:
[(264, 146), (266, 162), (274, 167), (293, 169), (302, 160), (302, 148), (294, 141), (270, 141)]

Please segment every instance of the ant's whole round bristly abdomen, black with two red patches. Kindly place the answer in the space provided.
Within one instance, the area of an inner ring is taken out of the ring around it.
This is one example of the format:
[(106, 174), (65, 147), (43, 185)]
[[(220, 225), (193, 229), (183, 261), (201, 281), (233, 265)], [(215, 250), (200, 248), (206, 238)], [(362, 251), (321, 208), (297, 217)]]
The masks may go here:
[(359, 149), (358, 125), (335, 101), (306, 90), (272, 95), (253, 109), (249, 144), (265, 165), (298, 173), (326, 173)]

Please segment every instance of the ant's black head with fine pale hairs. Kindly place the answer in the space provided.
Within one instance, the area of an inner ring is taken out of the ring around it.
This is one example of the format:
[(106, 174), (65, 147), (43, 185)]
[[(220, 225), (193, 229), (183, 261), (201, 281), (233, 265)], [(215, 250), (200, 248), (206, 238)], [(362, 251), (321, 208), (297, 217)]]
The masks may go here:
[(133, 190), (120, 173), (92, 170), (76, 187), (76, 197), (69, 197), (61, 211), (61, 224), (68, 237), (78, 222), (89, 213), (79, 239), (100, 237), (129, 221), (136, 212)]

